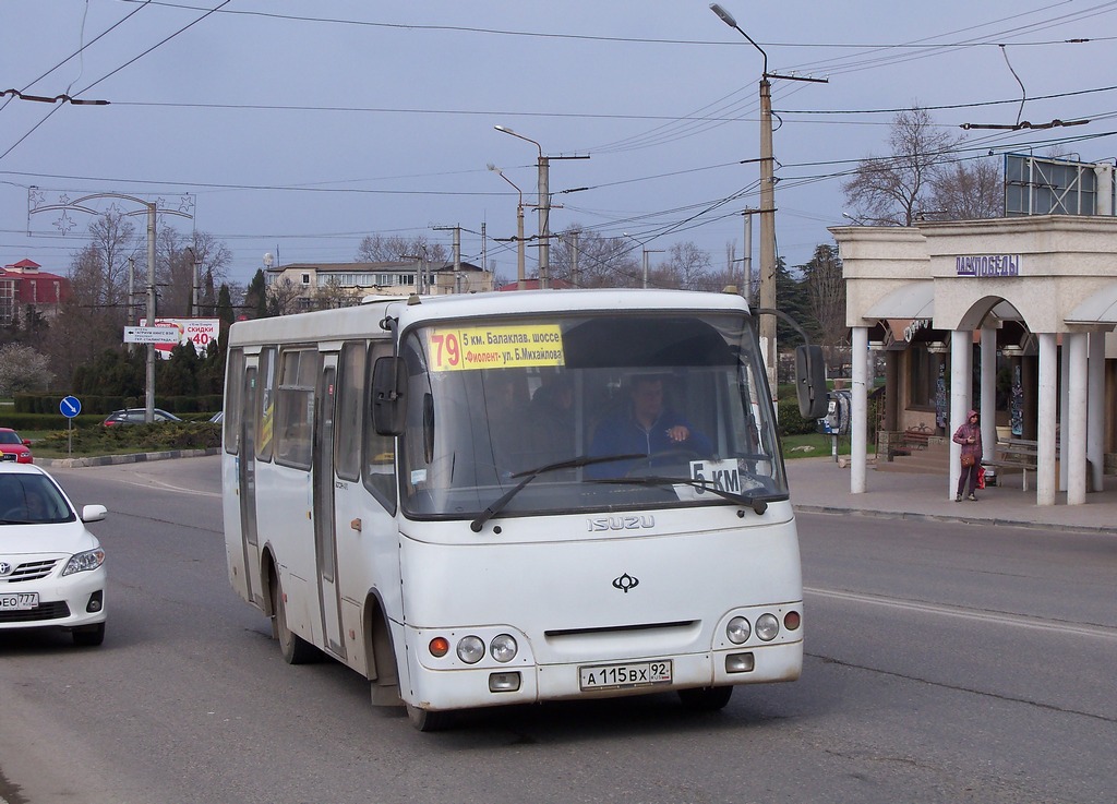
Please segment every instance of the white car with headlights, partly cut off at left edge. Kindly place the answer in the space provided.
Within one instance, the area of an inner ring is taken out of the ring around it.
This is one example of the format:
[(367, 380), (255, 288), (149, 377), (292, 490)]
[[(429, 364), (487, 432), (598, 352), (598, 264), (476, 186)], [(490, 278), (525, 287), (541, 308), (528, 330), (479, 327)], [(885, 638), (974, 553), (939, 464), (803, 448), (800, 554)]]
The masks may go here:
[(55, 479), (30, 463), (0, 463), (0, 631), (63, 628), (78, 645), (105, 639), (105, 551)]

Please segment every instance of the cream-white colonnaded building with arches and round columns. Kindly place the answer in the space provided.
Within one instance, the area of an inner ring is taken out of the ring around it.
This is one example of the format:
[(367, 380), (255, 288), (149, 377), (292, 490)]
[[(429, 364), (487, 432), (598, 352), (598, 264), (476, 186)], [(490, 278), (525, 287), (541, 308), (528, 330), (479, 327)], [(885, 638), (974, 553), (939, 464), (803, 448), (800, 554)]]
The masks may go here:
[[(852, 329), (851, 492), (866, 490), (870, 342), (886, 363), (886, 429), (922, 422), (948, 438), (977, 408), (991, 457), (997, 370), (1008, 370), (1022, 392), (1014, 424), (1037, 441), (1037, 505), (1054, 505), (1059, 491), (1080, 505), (1101, 489), (1106, 456), (1117, 452), (1117, 218), (830, 231)], [(951, 448), (942, 492), (953, 499), (961, 469)]]

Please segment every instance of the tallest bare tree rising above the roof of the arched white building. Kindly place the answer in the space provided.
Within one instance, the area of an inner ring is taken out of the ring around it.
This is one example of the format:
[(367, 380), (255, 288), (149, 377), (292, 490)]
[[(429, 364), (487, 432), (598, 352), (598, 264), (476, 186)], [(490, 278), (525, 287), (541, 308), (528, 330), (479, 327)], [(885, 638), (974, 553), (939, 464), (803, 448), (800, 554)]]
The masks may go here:
[(936, 128), (918, 106), (892, 119), (888, 156), (862, 160), (842, 184), (857, 218), (875, 226), (911, 226), (917, 213), (933, 210), (936, 174), (963, 141)]

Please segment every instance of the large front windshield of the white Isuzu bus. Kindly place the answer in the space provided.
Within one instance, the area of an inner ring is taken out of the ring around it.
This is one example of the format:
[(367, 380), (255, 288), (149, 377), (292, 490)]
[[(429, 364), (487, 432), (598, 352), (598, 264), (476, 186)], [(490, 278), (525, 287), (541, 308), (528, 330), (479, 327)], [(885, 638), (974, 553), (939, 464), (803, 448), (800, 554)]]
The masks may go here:
[(412, 328), (400, 350), (403, 513), (785, 499), (752, 326), (745, 314), (626, 312)]

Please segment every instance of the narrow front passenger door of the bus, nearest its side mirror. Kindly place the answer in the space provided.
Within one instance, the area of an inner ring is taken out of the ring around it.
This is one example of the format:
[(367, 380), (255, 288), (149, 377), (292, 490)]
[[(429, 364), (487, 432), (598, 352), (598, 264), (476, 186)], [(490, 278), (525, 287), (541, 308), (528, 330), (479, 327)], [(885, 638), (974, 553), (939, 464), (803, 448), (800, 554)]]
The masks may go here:
[(345, 658), (342, 639), (341, 592), (337, 583), (337, 540), (334, 529), (334, 419), (337, 404), (337, 355), (324, 355), (316, 394), (314, 449), (314, 548), (318, 565), (322, 632), (330, 652)]

